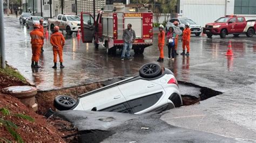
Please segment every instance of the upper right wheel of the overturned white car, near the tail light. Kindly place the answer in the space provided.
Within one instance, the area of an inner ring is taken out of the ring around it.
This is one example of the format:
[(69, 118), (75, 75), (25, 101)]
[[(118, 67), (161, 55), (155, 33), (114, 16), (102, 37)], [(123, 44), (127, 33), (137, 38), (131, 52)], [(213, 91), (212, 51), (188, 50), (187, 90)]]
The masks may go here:
[(143, 78), (154, 78), (161, 74), (161, 66), (156, 63), (147, 63), (139, 69), (139, 75)]

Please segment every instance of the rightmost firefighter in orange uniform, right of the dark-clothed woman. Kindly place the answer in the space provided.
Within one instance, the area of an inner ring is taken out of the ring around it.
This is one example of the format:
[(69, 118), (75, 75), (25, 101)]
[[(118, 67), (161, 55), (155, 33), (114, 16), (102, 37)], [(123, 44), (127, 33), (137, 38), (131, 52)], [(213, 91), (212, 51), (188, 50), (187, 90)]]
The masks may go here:
[(185, 30), (183, 31), (183, 37), (182, 37), (182, 48), (183, 52), (181, 55), (185, 55), (185, 46), (187, 47), (187, 53), (186, 55), (190, 55), (190, 24), (185, 24)]

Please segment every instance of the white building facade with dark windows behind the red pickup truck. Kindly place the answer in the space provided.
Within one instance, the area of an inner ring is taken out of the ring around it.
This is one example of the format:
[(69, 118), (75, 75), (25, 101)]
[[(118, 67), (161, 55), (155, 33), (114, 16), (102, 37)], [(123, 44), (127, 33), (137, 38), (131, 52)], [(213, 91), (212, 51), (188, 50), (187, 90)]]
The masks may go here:
[(178, 17), (190, 18), (205, 26), (225, 15), (241, 15), (256, 19), (255, 0), (179, 0)]

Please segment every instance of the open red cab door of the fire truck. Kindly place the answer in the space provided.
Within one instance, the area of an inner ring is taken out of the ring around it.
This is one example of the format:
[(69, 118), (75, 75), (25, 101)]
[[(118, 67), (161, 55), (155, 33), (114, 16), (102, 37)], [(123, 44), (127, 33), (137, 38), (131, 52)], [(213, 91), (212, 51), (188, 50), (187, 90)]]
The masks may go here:
[(83, 42), (92, 42), (95, 36), (95, 19), (90, 13), (81, 12), (81, 32)]

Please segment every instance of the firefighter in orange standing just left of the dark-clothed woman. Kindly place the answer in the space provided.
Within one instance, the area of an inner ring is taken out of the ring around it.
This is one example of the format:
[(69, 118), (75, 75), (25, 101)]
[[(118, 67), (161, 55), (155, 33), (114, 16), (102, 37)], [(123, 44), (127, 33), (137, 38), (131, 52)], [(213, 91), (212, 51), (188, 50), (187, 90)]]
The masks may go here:
[(164, 26), (159, 25), (159, 33), (158, 33), (158, 48), (160, 51), (160, 56), (159, 59), (157, 60), (158, 62), (163, 62), (164, 61), (164, 41), (165, 40), (165, 32), (164, 32)]

